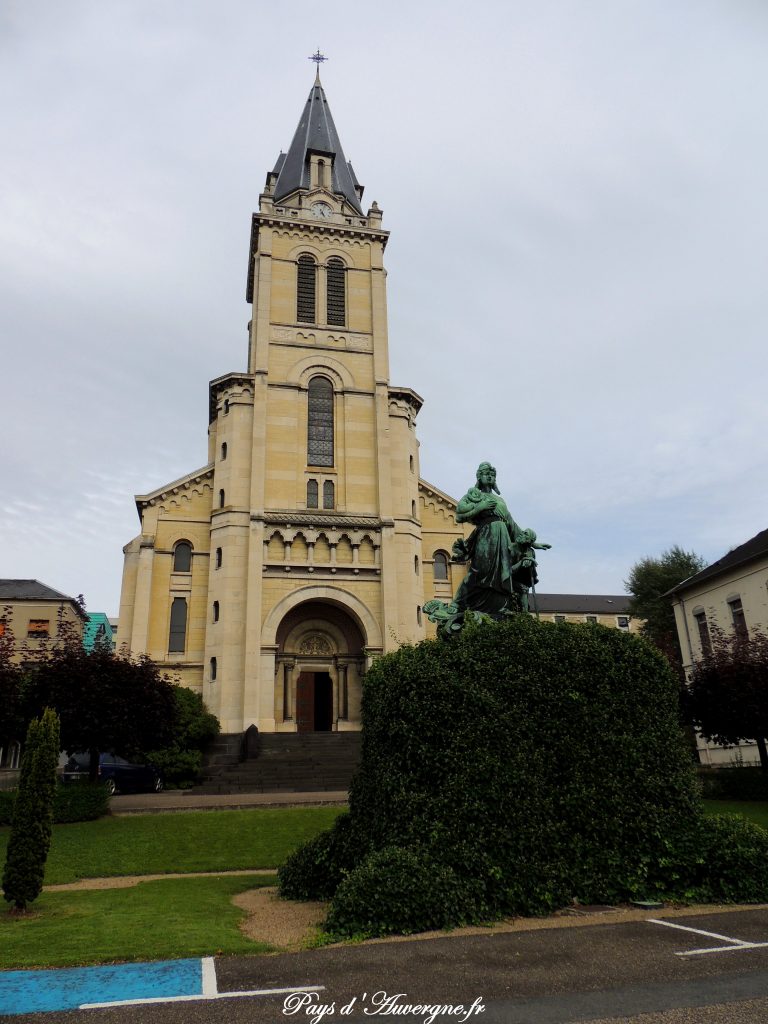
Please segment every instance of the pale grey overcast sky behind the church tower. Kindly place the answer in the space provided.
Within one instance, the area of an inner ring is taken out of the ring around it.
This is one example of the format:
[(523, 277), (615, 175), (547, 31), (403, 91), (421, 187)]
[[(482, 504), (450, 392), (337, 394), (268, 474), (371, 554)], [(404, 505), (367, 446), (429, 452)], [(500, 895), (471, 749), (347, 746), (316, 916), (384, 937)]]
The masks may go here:
[(133, 495), (205, 465), (245, 369), (317, 46), (422, 475), (492, 460), (548, 592), (765, 528), (763, 0), (0, 0), (0, 575), (117, 614)]

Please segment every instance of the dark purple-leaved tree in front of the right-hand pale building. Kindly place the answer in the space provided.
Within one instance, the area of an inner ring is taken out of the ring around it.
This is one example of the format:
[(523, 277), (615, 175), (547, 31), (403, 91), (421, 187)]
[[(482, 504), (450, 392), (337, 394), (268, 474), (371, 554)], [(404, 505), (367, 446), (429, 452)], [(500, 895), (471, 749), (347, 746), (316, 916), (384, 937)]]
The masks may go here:
[(691, 670), (685, 707), (706, 739), (754, 739), (768, 770), (768, 636), (710, 629), (710, 650)]

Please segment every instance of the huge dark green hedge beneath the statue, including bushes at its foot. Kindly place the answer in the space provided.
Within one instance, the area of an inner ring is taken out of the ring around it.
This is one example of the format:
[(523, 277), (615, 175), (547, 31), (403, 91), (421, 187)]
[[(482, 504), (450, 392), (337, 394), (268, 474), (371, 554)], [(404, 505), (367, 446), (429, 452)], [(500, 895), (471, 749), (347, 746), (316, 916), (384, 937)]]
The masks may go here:
[[(678, 684), (641, 638), (523, 615), (469, 625), (379, 658), (362, 724), (348, 821), (281, 871), (289, 898), (335, 892), (330, 929), (435, 927), (432, 896), (403, 882), (417, 863), (449, 894), (440, 927), (715, 891), (701, 848), (716, 864), (730, 826), (702, 824)], [(734, 835), (749, 865), (758, 840)], [(750, 884), (768, 899), (762, 876)]]

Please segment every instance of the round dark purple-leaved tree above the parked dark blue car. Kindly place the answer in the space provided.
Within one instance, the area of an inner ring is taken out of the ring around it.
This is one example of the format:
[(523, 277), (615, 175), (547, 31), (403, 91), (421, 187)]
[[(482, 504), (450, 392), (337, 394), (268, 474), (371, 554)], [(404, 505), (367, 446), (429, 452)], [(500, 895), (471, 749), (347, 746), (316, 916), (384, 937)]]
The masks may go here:
[(96, 646), (85, 650), (68, 642), (40, 662), (25, 686), (29, 717), (55, 708), (61, 720), (61, 745), (70, 753), (89, 751), (90, 778), (98, 775), (98, 754), (128, 757), (173, 740), (176, 701), (171, 682), (148, 657), (132, 659)]

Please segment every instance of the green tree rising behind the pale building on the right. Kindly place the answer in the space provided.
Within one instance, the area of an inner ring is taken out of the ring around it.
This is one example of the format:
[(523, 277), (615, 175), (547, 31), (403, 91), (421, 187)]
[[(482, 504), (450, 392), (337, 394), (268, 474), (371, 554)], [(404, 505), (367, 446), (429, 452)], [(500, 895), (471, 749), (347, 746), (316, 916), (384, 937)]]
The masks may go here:
[(677, 544), (658, 558), (641, 558), (630, 569), (625, 589), (632, 595), (630, 613), (644, 618), (642, 633), (667, 655), (680, 673), (682, 655), (672, 599), (665, 595), (683, 580), (694, 575), (707, 562)]

